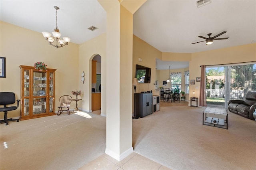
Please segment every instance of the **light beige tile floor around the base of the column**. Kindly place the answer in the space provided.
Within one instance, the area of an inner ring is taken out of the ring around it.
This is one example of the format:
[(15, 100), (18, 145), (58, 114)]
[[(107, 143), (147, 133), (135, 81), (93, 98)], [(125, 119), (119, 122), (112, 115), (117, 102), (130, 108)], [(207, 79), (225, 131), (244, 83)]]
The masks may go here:
[(121, 161), (103, 154), (79, 170), (170, 170), (170, 168), (133, 152)]

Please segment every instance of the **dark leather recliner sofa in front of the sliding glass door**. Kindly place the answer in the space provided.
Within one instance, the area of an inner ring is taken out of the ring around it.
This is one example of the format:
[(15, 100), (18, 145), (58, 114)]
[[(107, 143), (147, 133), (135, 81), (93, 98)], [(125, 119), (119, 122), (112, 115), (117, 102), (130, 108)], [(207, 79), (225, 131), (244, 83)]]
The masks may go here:
[(243, 100), (228, 101), (228, 110), (243, 117), (255, 120), (253, 112), (256, 109), (256, 92), (249, 91)]

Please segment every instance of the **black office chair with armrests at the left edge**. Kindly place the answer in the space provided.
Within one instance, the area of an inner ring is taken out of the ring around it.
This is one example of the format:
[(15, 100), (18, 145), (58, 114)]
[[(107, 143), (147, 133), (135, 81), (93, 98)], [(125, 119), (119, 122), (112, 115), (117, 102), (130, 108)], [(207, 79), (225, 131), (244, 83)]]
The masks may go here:
[(18, 109), (20, 100), (17, 100), (18, 105), (7, 107), (6, 105), (12, 105), (15, 103), (15, 94), (12, 92), (0, 92), (0, 105), (4, 105), (4, 107), (0, 107), (0, 112), (4, 112), (4, 120), (1, 120), (0, 123), (6, 123), (8, 125), (9, 121), (20, 121), (19, 119), (7, 119), (7, 112), (14, 111)]

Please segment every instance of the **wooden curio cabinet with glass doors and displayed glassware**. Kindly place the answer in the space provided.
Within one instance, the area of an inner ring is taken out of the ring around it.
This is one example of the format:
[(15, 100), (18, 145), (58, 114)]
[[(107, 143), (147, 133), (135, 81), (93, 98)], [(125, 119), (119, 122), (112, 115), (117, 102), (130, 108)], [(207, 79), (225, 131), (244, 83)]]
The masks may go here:
[(20, 65), (21, 114), (20, 120), (56, 115), (54, 113), (55, 71), (39, 71)]

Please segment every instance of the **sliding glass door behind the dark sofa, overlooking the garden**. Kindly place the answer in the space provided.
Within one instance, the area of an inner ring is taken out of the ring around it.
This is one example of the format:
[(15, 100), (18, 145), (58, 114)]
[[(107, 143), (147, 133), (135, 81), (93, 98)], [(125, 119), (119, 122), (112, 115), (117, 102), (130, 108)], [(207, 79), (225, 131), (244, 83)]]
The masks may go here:
[(256, 91), (256, 63), (206, 67), (208, 107), (228, 108), (230, 99)]

